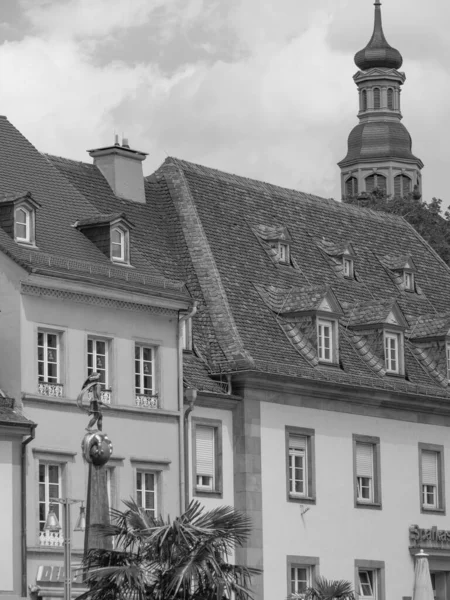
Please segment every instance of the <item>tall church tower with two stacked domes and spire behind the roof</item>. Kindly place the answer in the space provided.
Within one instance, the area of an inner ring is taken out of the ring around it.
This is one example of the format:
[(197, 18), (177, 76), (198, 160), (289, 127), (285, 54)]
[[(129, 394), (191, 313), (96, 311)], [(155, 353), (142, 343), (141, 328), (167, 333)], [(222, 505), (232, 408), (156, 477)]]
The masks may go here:
[(423, 162), (411, 152), (411, 136), (402, 119), (400, 93), (406, 77), (403, 59), (386, 41), (381, 2), (375, 0), (375, 25), (367, 46), (356, 53), (359, 71), (353, 79), (359, 93), (359, 124), (348, 137), (341, 169), (342, 196), (356, 196), (374, 188), (404, 196), (422, 193)]

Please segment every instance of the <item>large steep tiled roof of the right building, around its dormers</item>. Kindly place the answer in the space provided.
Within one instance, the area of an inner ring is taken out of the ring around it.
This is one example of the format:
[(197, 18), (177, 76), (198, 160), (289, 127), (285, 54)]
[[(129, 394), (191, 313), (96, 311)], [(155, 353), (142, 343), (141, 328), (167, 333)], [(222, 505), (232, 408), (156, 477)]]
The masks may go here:
[[(433, 309), (445, 311), (450, 270), (404, 219), (174, 158), (166, 159), (150, 180), (167, 184), (180, 219), (185, 279), (191, 295), (200, 300), (194, 336), (213, 373), (250, 368), (414, 394), (448, 394), (434, 364), (414, 346), (405, 348), (405, 379), (385, 375), (380, 341), (347, 329), (345, 317), (339, 327), (339, 368), (324, 368), (314, 358), (305, 324), (282, 316), (317, 308), (328, 288), (347, 319), (357, 307), (353, 324), (379, 324), (395, 305), (401, 318), (408, 315), (408, 323)], [(289, 231), (295, 266), (274, 264), (255, 235), (257, 224)], [(333, 251), (351, 244), (355, 279), (330, 268), (316, 243), (323, 239)], [(399, 289), (380, 262), (386, 255), (412, 257), (421, 294)]]

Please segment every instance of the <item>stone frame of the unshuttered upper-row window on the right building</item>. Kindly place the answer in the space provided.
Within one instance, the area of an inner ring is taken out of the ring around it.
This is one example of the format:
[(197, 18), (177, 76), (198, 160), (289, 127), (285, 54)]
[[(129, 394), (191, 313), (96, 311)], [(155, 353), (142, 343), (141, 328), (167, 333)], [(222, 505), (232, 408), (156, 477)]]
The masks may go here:
[[(306, 495), (291, 492), (290, 484), (290, 438), (306, 437)], [(306, 427), (285, 427), (285, 463), (286, 463), (286, 498), (288, 502), (299, 504), (316, 504), (316, 466), (315, 466), (315, 430)]]

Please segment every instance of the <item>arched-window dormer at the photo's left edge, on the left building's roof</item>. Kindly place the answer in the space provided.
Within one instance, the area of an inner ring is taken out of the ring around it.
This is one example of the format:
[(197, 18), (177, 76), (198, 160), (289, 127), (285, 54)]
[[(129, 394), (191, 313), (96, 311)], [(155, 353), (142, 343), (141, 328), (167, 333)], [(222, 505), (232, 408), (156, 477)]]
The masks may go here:
[(36, 245), (36, 210), (40, 203), (31, 192), (0, 196), (0, 227), (18, 244)]

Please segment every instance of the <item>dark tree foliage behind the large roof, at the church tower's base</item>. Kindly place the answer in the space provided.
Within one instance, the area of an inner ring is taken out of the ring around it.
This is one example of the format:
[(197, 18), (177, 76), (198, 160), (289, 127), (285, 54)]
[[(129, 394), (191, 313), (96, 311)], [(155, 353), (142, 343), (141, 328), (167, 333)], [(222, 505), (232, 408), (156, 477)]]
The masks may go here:
[(404, 197), (387, 196), (383, 190), (375, 189), (370, 194), (347, 196), (343, 201), (404, 217), (442, 260), (450, 265), (450, 212), (446, 210), (442, 214), (442, 200), (433, 198), (427, 203), (414, 194)]

